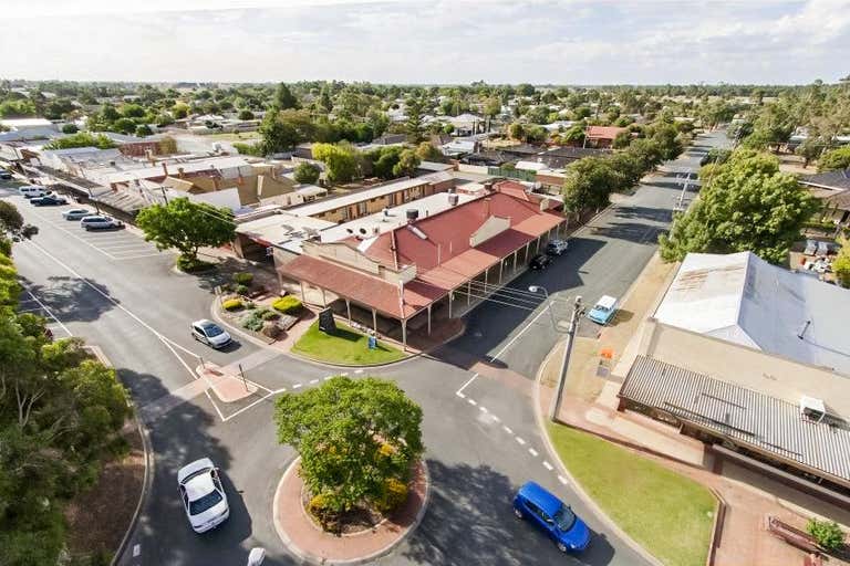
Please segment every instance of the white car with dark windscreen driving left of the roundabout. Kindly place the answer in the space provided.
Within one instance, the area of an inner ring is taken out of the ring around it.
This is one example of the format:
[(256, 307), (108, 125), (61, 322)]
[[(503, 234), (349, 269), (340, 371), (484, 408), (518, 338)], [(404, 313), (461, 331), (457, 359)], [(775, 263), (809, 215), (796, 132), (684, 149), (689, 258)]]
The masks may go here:
[(177, 472), (177, 483), (186, 516), (196, 533), (206, 533), (230, 516), (218, 468), (209, 458), (195, 460), (180, 468)]

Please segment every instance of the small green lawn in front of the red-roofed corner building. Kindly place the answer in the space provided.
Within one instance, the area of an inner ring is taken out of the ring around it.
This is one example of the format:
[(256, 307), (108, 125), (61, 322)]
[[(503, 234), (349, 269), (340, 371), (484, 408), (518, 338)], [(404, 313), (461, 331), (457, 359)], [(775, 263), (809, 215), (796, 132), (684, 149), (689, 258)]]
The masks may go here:
[(331, 336), (319, 329), (319, 322), (301, 336), (292, 350), (319, 361), (366, 366), (386, 364), (405, 357), (405, 354), (379, 340), (377, 348), (369, 349), (369, 337), (348, 325), (336, 323), (336, 334)]

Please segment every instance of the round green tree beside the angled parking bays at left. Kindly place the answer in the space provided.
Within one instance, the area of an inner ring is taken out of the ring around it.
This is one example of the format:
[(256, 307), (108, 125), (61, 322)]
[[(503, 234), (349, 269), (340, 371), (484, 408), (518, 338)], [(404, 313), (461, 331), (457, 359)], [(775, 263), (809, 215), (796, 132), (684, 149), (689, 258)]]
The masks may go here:
[(136, 223), (145, 232), (145, 240), (159, 250), (176, 249), (187, 266), (197, 262), (201, 247), (224, 245), (236, 238), (230, 209), (193, 202), (185, 197), (147, 207), (138, 213)]

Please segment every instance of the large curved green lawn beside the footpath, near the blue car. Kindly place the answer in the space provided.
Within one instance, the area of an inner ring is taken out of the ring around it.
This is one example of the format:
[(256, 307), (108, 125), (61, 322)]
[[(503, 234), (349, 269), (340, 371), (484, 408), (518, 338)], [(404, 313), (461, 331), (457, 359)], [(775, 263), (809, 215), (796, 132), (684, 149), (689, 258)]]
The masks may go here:
[(667, 566), (704, 566), (715, 497), (695, 481), (611, 442), (549, 424), (558, 455), (620, 527)]

